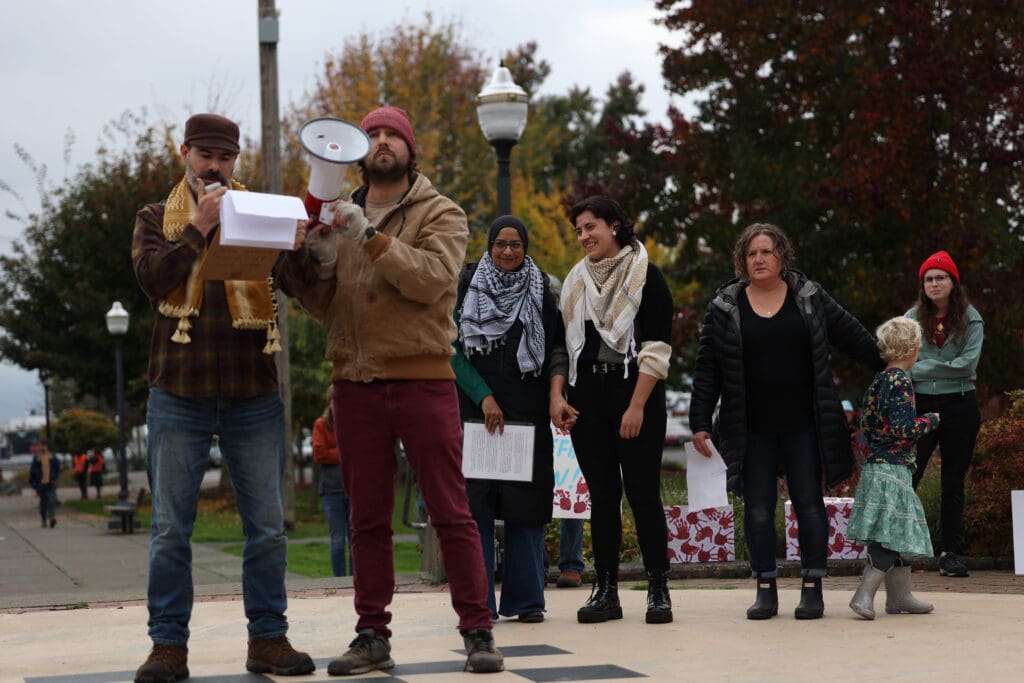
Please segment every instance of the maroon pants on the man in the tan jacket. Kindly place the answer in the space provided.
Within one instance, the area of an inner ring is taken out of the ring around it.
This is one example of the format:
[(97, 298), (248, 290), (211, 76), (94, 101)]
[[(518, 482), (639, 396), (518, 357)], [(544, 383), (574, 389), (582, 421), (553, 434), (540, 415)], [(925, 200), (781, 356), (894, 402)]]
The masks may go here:
[(334, 383), (334, 425), (351, 504), (355, 630), (391, 637), (394, 593), (391, 511), (397, 469), (394, 443), (406, 447), (431, 526), (440, 542), (459, 630), (489, 629), (487, 579), (480, 535), (462, 476), (462, 421), (450, 380)]

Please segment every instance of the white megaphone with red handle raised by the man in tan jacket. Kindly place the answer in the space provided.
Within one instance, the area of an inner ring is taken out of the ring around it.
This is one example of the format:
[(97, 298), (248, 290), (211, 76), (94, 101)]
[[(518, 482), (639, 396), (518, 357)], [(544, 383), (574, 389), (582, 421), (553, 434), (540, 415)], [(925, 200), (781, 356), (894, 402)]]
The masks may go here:
[(345, 171), (370, 154), (370, 136), (354, 123), (328, 117), (302, 124), (299, 142), (311, 157), (306, 213), (330, 224)]

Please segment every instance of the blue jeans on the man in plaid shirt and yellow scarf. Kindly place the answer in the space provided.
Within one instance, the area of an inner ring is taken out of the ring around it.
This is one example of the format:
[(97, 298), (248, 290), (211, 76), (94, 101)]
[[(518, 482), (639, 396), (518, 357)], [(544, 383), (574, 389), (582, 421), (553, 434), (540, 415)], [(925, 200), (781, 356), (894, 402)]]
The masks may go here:
[(180, 397), (150, 390), (150, 637), (161, 645), (188, 642), (193, 606), (191, 535), (200, 484), (220, 438), (242, 517), (242, 593), (249, 638), (288, 631), (285, 570), (288, 541), (282, 507), (284, 405), (278, 394), (245, 398)]

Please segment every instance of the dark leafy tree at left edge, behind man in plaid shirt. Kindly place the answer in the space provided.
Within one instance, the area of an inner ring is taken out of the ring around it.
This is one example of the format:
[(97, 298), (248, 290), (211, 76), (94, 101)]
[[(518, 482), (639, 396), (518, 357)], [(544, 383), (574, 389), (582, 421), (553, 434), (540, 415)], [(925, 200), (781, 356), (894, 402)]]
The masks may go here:
[(25, 237), (0, 256), (0, 356), (73, 380), (76, 394), (114, 404), (114, 343), (104, 315), (120, 301), (131, 316), (124, 337), (128, 396), (143, 401), (150, 302), (132, 272), (135, 213), (166, 196), (182, 166), (171, 131), (125, 114), (105, 129), (95, 161), (53, 184), (32, 164), (41, 208), (22, 220)]

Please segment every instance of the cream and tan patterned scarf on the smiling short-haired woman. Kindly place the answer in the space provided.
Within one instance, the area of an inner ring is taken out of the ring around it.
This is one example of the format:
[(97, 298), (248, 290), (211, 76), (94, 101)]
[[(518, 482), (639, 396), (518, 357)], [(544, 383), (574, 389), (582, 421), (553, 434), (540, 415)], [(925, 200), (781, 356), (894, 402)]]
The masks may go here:
[(577, 361), (586, 342), (587, 321), (601, 341), (622, 353), (629, 376), (629, 362), (637, 357), (633, 321), (640, 309), (647, 283), (647, 250), (637, 242), (623, 247), (610, 258), (591, 261), (584, 257), (572, 266), (562, 285), (561, 310), (565, 323), (565, 347), (569, 354), (569, 384), (575, 386)]

